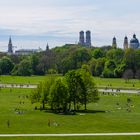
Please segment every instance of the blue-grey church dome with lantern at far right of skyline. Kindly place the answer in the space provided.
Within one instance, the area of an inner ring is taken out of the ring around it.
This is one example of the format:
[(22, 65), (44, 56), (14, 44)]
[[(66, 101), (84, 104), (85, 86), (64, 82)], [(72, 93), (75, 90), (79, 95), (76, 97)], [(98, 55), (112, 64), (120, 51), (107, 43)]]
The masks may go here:
[(130, 48), (139, 49), (140, 43), (139, 40), (136, 38), (136, 35), (133, 35), (133, 38), (130, 40)]

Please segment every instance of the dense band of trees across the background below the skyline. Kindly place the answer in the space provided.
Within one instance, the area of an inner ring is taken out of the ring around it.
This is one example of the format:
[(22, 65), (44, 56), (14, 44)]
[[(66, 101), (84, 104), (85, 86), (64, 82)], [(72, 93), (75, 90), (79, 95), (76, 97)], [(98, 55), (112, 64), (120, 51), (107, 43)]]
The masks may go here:
[(1, 75), (63, 74), (86, 64), (93, 76), (140, 79), (140, 49), (65, 45), (28, 56), (0, 55)]

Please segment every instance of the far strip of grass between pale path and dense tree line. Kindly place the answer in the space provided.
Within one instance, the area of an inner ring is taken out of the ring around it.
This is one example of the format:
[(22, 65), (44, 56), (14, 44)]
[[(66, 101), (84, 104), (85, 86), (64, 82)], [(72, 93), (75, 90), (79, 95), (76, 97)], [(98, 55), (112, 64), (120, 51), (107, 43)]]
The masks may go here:
[[(54, 75), (55, 76), (55, 75)], [(57, 77), (60, 75), (56, 75)], [(0, 83), (10, 84), (38, 84), (44, 81), (48, 76), (0, 76)], [(140, 80), (132, 79), (129, 82), (125, 82), (121, 78), (99, 78), (94, 77), (94, 81), (99, 88), (120, 88), (120, 89), (140, 89)], [(111, 86), (110, 86), (111, 85)]]

